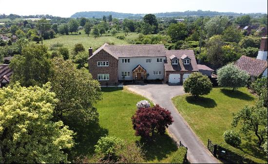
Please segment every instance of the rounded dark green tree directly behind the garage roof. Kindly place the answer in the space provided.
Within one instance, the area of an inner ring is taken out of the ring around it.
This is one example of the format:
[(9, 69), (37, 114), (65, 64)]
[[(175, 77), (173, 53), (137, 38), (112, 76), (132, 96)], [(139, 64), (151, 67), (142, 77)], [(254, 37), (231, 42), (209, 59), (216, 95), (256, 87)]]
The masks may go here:
[(168, 35), (172, 38), (173, 42), (185, 40), (187, 37), (187, 27), (184, 23), (172, 23), (168, 28)]

